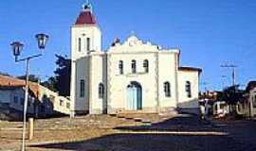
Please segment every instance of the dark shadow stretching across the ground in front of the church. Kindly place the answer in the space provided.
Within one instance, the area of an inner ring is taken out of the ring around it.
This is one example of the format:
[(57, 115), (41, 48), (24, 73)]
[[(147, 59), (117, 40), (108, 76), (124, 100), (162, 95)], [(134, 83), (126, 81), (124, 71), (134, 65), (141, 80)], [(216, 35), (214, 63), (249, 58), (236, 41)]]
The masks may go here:
[[(117, 127), (116, 134), (73, 143), (50, 143), (30, 147), (77, 151), (244, 151), (243, 143), (237, 143), (225, 135), (176, 135), (170, 131), (212, 130), (210, 125), (197, 117), (176, 117), (152, 126)], [(84, 129), (86, 130), (86, 129)], [(128, 131), (134, 131), (129, 133)], [(154, 130), (161, 133), (137, 133), (137, 130)], [(126, 132), (125, 132), (126, 131)]]

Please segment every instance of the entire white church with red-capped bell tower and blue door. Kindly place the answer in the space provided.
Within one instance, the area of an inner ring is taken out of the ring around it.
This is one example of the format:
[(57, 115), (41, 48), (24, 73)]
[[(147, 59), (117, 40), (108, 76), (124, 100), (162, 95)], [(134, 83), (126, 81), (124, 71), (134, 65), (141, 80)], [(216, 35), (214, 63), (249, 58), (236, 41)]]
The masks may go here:
[(201, 69), (179, 66), (179, 49), (136, 36), (101, 50), (90, 5), (71, 27), (71, 112), (103, 114), (198, 109)]

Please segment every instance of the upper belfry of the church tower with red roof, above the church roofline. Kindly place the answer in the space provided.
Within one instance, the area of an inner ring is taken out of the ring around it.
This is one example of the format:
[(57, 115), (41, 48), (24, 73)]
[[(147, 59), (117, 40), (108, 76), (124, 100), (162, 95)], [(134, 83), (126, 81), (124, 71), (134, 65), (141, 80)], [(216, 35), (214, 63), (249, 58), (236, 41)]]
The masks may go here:
[(71, 58), (81, 59), (93, 52), (101, 52), (101, 29), (97, 25), (92, 5), (82, 5), (82, 11), (71, 27)]

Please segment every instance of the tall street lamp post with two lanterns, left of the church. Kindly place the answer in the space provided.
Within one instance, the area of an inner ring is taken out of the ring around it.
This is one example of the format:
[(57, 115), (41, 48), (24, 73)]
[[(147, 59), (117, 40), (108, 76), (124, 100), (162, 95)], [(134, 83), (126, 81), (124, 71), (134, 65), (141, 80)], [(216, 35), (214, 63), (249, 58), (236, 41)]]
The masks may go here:
[(25, 102), (24, 102), (24, 114), (23, 114), (23, 133), (22, 133), (22, 151), (25, 151), (26, 148), (26, 119), (27, 119), (27, 102), (28, 102), (28, 76), (29, 76), (29, 60), (43, 56), (43, 50), (46, 48), (46, 42), (48, 36), (46, 34), (37, 34), (36, 36), (38, 47), (41, 50), (40, 54), (29, 56), (27, 58), (18, 59), (21, 55), (21, 51), (24, 47), (24, 44), (21, 42), (12, 42), (10, 45), (12, 47), (13, 55), (15, 57), (15, 62), (26, 61), (26, 91), (25, 91)]

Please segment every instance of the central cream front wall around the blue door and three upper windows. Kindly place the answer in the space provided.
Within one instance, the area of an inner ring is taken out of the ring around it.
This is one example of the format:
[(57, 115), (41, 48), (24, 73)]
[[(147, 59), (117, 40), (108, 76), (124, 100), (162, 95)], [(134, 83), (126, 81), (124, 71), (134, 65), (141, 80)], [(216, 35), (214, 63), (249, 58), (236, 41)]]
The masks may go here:
[[(155, 112), (157, 100), (156, 53), (124, 53), (108, 55), (108, 113), (127, 107), (127, 86), (131, 81), (142, 87), (142, 110)], [(132, 59), (137, 61), (137, 74), (132, 74)], [(144, 72), (143, 60), (149, 60), (149, 73)], [(119, 60), (123, 61), (123, 75), (119, 74)]]

